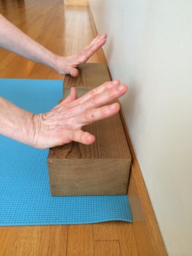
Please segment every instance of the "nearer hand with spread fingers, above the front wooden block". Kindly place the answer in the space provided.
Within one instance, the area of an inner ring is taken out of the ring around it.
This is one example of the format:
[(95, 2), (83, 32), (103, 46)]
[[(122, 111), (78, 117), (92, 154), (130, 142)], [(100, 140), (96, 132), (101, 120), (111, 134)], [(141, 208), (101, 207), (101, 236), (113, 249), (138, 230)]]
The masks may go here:
[(110, 81), (91, 90), (77, 99), (76, 88), (70, 95), (48, 113), (33, 115), (29, 134), (33, 135), (36, 148), (56, 147), (77, 141), (90, 145), (95, 136), (81, 130), (83, 125), (115, 115), (119, 104), (104, 106), (127, 92), (127, 86), (120, 81)]

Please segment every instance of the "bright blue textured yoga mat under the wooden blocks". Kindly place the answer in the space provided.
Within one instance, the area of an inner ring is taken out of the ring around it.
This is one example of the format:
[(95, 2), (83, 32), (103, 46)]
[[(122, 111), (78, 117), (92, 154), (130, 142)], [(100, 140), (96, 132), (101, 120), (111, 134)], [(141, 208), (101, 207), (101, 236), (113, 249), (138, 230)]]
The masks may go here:
[[(0, 95), (33, 113), (49, 111), (63, 81), (0, 79)], [(132, 221), (127, 196), (52, 197), (48, 150), (0, 135), (0, 225), (65, 225)]]

